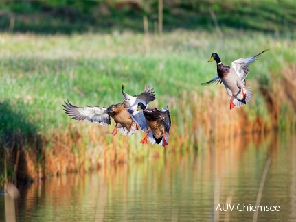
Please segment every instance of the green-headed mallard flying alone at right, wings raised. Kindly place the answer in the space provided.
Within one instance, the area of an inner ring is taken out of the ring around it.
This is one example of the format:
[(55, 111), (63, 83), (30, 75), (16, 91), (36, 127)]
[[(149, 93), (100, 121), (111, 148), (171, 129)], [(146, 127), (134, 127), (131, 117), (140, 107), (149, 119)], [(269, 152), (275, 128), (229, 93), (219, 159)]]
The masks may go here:
[(202, 85), (207, 84), (224, 84), (227, 94), (229, 95), (230, 110), (234, 107), (244, 106), (251, 99), (251, 88), (246, 88), (246, 80), (249, 73), (248, 66), (255, 62), (258, 57), (268, 51), (266, 49), (261, 53), (251, 56), (249, 58), (240, 58), (231, 63), (231, 66), (225, 66), (222, 64), (217, 53), (212, 53), (211, 58), (207, 62), (216, 61), (217, 64), (217, 76)]

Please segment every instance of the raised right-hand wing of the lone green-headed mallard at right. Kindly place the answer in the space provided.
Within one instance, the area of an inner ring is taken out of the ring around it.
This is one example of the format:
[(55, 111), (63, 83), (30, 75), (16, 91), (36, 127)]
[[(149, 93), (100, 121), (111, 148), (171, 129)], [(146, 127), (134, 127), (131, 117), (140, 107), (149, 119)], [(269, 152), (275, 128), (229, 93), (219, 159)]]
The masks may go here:
[(242, 81), (244, 81), (244, 79), (249, 74), (248, 66), (253, 62), (255, 62), (255, 60), (257, 60), (262, 53), (268, 50), (269, 49), (266, 49), (260, 52), (259, 54), (255, 56), (251, 56), (249, 58), (239, 58), (238, 60), (235, 60), (234, 62), (231, 63), (232, 68), (234, 68), (234, 70), (236, 71), (236, 74), (238, 75), (238, 77), (240, 77)]

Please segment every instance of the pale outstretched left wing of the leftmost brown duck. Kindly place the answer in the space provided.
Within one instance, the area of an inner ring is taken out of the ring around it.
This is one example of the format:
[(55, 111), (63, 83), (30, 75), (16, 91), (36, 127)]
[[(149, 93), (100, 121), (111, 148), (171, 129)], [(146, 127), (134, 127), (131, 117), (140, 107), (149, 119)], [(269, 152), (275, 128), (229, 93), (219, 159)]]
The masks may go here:
[(78, 107), (72, 105), (69, 100), (65, 101), (65, 113), (72, 119), (78, 121), (89, 121), (90, 123), (100, 123), (100, 125), (111, 124), (108, 108), (99, 106)]

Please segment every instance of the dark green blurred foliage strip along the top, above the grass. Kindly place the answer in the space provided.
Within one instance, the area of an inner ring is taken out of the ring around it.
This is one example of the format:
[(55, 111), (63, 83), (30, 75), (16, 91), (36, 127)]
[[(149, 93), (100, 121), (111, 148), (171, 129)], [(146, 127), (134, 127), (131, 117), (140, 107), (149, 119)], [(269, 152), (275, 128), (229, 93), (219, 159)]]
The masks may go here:
[[(157, 0), (4, 0), (0, 2), (1, 31), (63, 33), (142, 32), (143, 16), (157, 25)], [(216, 18), (214, 18), (214, 17)], [(296, 3), (293, 0), (163, 1), (163, 31), (172, 29), (251, 29), (294, 32)]]

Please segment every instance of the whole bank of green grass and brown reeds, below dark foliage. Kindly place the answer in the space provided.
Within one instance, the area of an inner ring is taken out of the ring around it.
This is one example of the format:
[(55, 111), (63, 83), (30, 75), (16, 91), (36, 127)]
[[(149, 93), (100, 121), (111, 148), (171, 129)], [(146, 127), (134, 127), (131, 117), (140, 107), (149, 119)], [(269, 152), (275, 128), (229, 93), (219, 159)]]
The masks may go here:
[[(181, 30), (148, 38), (130, 32), (1, 34), (2, 162), (6, 156), (8, 176), (15, 177), (14, 168), (23, 160), (18, 177), (37, 178), (164, 155), (162, 147), (141, 147), (141, 132), (112, 137), (114, 125), (73, 121), (62, 110), (66, 99), (77, 106), (119, 103), (122, 84), (130, 94), (150, 85), (157, 93), (151, 106), (169, 106), (168, 152), (192, 151), (211, 138), (279, 127), (291, 131), (295, 46), (295, 40), (232, 29), (219, 39), (215, 32)], [(253, 97), (247, 106), (230, 111), (224, 86), (201, 86), (216, 74), (216, 65), (207, 63), (212, 52), (231, 64), (269, 48), (250, 66), (247, 84)], [(284, 84), (292, 84), (290, 91)]]

